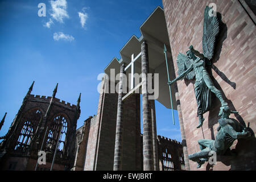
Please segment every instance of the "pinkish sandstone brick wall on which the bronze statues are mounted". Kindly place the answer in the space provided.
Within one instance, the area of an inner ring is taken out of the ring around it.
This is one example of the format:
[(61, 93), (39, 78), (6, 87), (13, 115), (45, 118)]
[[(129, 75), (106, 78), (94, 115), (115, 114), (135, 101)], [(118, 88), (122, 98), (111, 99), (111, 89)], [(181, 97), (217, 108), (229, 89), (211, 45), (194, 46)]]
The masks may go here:
[[(163, 0), (168, 35), (177, 76), (176, 58), (179, 52), (185, 53), (191, 44), (200, 52), (202, 49), (203, 16), (205, 6), (216, 3), (217, 11), (222, 15), (222, 22), (226, 24), (220, 34), (216, 48), (216, 57), (212, 69), (215, 78), (214, 85), (222, 89), (232, 110), (239, 114), (230, 117), (250, 122), (254, 133), (256, 131), (256, 38), (255, 25), (237, 0)], [(219, 57), (219, 58), (218, 58)], [(236, 83), (236, 87), (234, 87)], [(203, 129), (196, 129), (198, 124), (197, 105), (193, 81), (178, 81), (181, 110), (184, 120), (185, 137), (187, 139), (188, 154), (200, 151), (197, 140), (214, 139), (218, 126), (218, 111), (220, 103), (213, 101), (213, 110), (204, 114)], [(234, 142), (236, 157), (221, 156), (221, 160), (213, 170), (255, 169), (255, 138), (241, 139)], [(196, 163), (190, 161), (192, 170), (196, 170)], [(204, 164), (200, 170), (211, 169)]]

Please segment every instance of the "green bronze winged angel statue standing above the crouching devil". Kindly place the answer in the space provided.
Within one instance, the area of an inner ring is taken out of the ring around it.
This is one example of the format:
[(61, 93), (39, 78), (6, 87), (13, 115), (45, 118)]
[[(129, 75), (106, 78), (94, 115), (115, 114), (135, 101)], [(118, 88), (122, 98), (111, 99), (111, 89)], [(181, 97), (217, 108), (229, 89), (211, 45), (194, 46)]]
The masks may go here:
[(214, 86), (206, 66), (212, 64), (214, 55), (214, 46), (216, 37), (219, 32), (219, 22), (216, 16), (210, 16), (211, 7), (205, 7), (204, 11), (204, 30), (203, 30), (203, 53), (196, 51), (193, 46), (189, 47), (187, 55), (179, 53), (177, 55), (178, 77), (169, 81), (171, 85), (177, 80), (187, 78), (193, 79), (196, 76), (195, 95), (197, 101), (197, 117), (199, 117), (199, 125), (201, 127), (204, 122), (203, 114), (209, 111), (211, 105), (211, 92), (220, 100), (221, 106), (227, 106), (220, 90)]

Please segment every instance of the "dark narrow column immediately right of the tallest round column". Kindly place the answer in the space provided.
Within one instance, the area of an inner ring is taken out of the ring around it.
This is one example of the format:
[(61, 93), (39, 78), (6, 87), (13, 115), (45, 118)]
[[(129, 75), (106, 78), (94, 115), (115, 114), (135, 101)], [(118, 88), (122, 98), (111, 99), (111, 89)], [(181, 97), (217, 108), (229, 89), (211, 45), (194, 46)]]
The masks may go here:
[(159, 171), (158, 160), (158, 138), (156, 135), (156, 119), (155, 119), (155, 100), (150, 100), (151, 118), (152, 118), (152, 140), (153, 140), (153, 157), (154, 157), (154, 171)]

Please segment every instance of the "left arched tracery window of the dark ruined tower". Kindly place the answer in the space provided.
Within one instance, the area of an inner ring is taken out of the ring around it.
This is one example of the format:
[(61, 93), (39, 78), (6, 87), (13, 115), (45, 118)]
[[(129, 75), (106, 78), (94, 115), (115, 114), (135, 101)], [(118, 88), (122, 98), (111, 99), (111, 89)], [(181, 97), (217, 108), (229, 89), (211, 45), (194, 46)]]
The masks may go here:
[(15, 146), (15, 150), (24, 151), (30, 145), (33, 135), (33, 126), (30, 121), (25, 121), (20, 131), (18, 141)]

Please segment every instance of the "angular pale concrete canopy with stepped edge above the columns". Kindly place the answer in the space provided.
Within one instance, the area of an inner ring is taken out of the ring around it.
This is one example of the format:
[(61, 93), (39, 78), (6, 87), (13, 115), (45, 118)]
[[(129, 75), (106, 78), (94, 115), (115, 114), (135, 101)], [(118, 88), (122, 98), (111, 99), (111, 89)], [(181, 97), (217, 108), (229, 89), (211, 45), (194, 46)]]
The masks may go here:
[[(160, 6), (156, 7), (153, 13), (148, 16), (146, 21), (139, 29), (142, 34), (141, 37), (137, 38), (135, 35), (131, 36), (125, 46), (123, 46), (121, 51), (119, 51), (121, 59), (118, 60), (116, 57), (114, 57), (114, 59), (109, 63), (104, 71), (110, 77), (110, 69), (114, 69), (115, 75), (117, 75), (120, 71), (122, 63), (125, 63), (126, 66), (129, 65), (131, 63), (131, 55), (134, 54), (135, 58), (139, 55), (139, 53), (141, 53), (141, 44), (143, 40), (146, 40), (148, 44), (150, 73), (159, 74), (159, 97), (156, 100), (170, 109), (171, 101), (167, 84), (168, 76), (166, 60), (163, 51), (164, 44), (166, 44), (167, 47), (168, 72), (170, 75), (170, 80), (173, 80), (174, 78), (171, 77), (172, 74), (170, 61), (172, 61), (172, 55), (163, 9)], [(131, 67), (126, 69), (127, 78), (129, 77), (129, 73), (131, 73)], [(139, 56), (138, 59), (134, 62), (134, 73), (138, 73), (139, 75), (141, 74), (141, 56)], [(128, 90), (130, 90), (130, 82), (128, 85)], [(135, 86), (136, 85), (137, 84), (135, 84)], [(173, 109), (177, 109), (174, 88), (171, 87), (171, 90)]]

